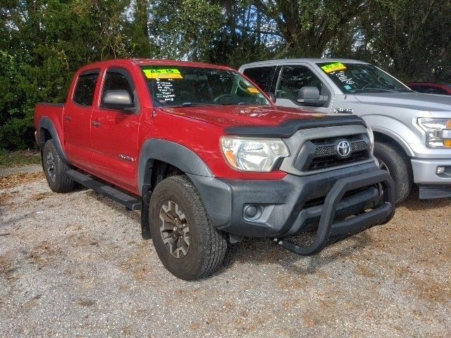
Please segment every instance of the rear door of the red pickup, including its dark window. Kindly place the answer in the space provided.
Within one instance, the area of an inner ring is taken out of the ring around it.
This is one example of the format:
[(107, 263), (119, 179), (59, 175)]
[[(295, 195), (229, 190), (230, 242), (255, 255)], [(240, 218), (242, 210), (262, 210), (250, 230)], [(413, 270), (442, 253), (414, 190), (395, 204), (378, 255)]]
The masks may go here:
[(87, 168), (91, 163), (91, 113), (99, 73), (100, 70), (87, 70), (78, 75), (63, 112), (66, 156), (80, 168)]

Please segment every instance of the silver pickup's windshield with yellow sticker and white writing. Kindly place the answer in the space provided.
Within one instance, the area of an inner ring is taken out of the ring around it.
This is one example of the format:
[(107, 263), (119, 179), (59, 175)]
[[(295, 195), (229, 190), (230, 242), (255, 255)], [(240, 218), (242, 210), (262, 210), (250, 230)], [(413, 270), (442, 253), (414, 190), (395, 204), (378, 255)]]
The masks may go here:
[(321, 62), (319, 68), (345, 94), (368, 92), (412, 92), (374, 65), (366, 63)]

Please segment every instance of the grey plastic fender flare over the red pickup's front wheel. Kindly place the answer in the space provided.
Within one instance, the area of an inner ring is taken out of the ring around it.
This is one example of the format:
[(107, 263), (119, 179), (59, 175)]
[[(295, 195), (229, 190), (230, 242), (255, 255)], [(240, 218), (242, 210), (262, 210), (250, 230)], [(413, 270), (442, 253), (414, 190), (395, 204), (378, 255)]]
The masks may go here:
[(138, 188), (142, 192), (142, 185), (149, 170), (149, 160), (158, 160), (169, 163), (183, 173), (213, 177), (211, 170), (194, 151), (182, 144), (165, 139), (148, 139), (142, 145), (140, 162), (138, 163)]

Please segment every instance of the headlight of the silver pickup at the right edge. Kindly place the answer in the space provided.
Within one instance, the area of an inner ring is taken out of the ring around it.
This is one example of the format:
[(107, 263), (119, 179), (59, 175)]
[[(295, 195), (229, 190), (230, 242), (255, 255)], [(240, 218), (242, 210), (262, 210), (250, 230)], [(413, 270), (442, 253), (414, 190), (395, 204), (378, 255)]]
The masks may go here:
[(451, 119), (419, 118), (418, 125), (426, 132), (428, 148), (451, 147)]

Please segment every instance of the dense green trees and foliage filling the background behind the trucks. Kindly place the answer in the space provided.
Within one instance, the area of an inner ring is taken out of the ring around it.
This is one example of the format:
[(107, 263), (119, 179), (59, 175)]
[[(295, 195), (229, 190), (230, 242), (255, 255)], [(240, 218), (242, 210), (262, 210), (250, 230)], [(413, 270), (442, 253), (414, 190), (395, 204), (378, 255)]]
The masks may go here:
[(451, 82), (450, 27), (450, 0), (3, 0), (0, 148), (32, 146), (35, 104), (93, 61), (337, 56)]

